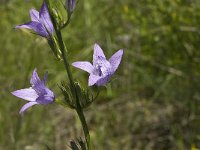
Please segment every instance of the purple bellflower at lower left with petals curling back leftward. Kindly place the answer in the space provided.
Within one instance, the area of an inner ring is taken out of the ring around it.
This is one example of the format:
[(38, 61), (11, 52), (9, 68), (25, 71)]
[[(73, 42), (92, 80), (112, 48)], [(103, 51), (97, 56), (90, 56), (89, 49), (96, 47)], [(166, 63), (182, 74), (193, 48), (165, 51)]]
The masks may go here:
[(43, 80), (40, 80), (35, 69), (30, 80), (31, 87), (12, 92), (14, 96), (29, 101), (21, 108), (20, 114), (33, 105), (45, 105), (53, 102), (55, 96), (54, 93), (45, 86), (46, 78), (47, 73), (45, 73)]

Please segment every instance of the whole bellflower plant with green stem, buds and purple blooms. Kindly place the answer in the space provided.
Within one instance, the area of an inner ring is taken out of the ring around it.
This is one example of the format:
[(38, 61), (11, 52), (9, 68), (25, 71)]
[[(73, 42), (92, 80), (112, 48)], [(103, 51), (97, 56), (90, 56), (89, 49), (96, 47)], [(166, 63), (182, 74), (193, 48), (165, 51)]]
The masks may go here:
[[(53, 3), (55, 2), (55, 3)], [(54, 5), (55, 4), (55, 5)], [(63, 19), (59, 6), (68, 14), (67, 19)], [(81, 143), (82, 148), (91, 150), (90, 135), (87, 123), (84, 117), (83, 109), (88, 107), (98, 96), (93, 96), (89, 87), (104, 86), (109, 82), (111, 76), (117, 70), (123, 55), (123, 50), (120, 49), (114, 53), (110, 59), (106, 59), (103, 50), (98, 44), (94, 44), (93, 63), (87, 61), (77, 61), (72, 63), (72, 66), (82, 69), (89, 73), (88, 88), (83, 88), (77, 81), (73, 79), (68, 58), (66, 58), (66, 46), (62, 39), (61, 30), (66, 27), (71, 19), (71, 15), (75, 9), (76, 0), (66, 0), (65, 6), (61, 1), (45, 0), (40, 8), (40, 11), (31, 9), (29, 15), (31, 21), (18, 25), (16, 29), (27, 29), (31, 32), (47, 39), (50, 48), (56, 58), (63, 62), (69, 83), (61, 82), (59, 85), (63, 94), (64, 100), (57, 100), (55, 94), (46, 87), (47, 73), (44, 74), (41, 80), (34, 69), (29, 88), (13, 91), (12, 94), (18, 98), (28, 101), (20, 109), (20, 114), (33, 105), (47, 105), (53, 102), (75, 109), (81, 121), (86, 144)], [(66, 21), (67, 20), (67, 21)], [(66, 21), (66, 22), (65, 22)], [(74, 143), (76, 145), (76, 142)]]

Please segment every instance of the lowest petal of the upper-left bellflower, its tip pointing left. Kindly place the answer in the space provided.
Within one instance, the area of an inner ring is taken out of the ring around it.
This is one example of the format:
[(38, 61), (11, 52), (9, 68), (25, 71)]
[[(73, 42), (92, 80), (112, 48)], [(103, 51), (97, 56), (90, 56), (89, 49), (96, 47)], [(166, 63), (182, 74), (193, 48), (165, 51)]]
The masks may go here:
[(35, 21), (30, 21), (30, 22), (27, 22), (25, 24), (18, 25), (15, 28), (30, 29), (30, 30), (33, 30), (36, 34), (38, 34), (42, 37), (48, 36), (48, 33), (46, 32), (46, 29), (44, 28), (44, 26), (41, 23), (35, 22)]

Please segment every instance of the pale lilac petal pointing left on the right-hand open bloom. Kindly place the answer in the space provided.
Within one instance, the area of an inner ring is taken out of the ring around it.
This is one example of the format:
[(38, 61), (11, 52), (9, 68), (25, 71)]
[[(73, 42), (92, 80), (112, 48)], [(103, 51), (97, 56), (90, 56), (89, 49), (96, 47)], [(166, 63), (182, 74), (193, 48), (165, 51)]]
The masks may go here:
[(88, 73), (92, 73), (93, 66), (90, 62), (87, 61), (77, 61), (72, 63), (72, 66), (87, 71)]

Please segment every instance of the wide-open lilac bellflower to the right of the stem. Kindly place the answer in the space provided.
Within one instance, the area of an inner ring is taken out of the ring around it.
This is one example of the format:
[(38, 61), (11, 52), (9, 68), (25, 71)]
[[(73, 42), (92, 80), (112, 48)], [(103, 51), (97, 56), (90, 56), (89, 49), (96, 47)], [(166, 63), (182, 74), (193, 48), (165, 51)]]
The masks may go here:
[(122, 55), (123, 50), (120, 49), (115, 54), (113, 54), (109, 60), (106, 60), (106, 57), (100, 46), (95, 44), (93, 65), (87, 61), (77, 61), (72, 63), (72, 66), (82, 69), (90, 74), (88, 80), (89, 86), (94, 84), (97, 86), (103, 86), (109, 81), (111, 75), (113, 75), (118, 68)]

